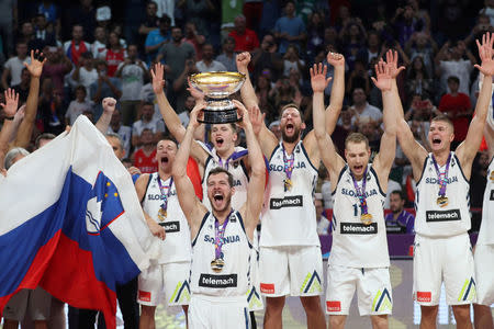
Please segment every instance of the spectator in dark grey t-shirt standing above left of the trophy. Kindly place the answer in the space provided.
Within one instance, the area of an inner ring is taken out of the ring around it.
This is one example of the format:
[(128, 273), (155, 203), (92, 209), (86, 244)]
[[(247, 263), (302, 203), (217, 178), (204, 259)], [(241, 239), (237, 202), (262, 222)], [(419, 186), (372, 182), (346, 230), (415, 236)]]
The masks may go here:
[(194, 47), (189, 43), (182, 43), (182, 30), (175, 26), (171, 29), (171, 42), (162, 45), (156, 61), (165, 60), (167, 79), (173, 81), (182, 72), (187, 59), (194, 57)]

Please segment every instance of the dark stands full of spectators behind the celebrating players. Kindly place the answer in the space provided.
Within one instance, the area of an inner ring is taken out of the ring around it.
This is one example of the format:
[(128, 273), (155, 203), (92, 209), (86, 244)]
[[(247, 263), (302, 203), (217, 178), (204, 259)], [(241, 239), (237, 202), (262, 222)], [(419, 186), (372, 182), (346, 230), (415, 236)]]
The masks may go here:
[[(101, 101), (112, 97), (119, 111), (109, 129), (122, 137), (130, 163), (154, 172), (155, 145), (166, 134), (150, 84), (155, 63), (165, 65), (167, 97), (187, 124), (194, 105), (188, 77), (236, 71), (235, 55), (250, 52), (259, 106), (280, 136), (278, 113), (288, 103), (300, 105), (310, 128), (308, 67), (337, 52), (346, 58), (346, 97), (333, 140), (343, 151), (346, 136), (360, 132), (375, 154), (382, 101), (370, 77), (378, 59), (394, 48), (406, 66), (397, 82), (415, 138), (427, 149), (430, 118), (446, 113), (454, 124), (454, 147), (465, 137), (479, 90), (474, 41), (493, 25), (492, 0), (3, 0), (0, 94), (13, 88), (26, 101), (31, 76), (23, 63), (31, 50), (42, 50), (47, 61), (32, 140), (64, 132), (79, 115), (98, 121)], [(471, 178), (472, 208), (482, 205), (489, 161), (480, 151)], [(323, 206), (332, 208), (327, 172), (322, 169), (319, 177)], [(412, 206), (414, 184), (398, 148), (388, 190), (403, 191)], [(472, 224), (476, 230), (480, 215)]]

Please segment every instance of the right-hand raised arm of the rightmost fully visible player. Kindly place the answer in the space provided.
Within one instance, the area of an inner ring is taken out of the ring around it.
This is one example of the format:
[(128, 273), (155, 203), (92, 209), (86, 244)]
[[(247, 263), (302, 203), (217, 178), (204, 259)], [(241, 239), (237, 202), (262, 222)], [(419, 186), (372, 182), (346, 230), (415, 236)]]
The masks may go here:
[(475, 64), (475, 67), (484, 75), (482, 80), (482, 88), (479, 93), (479, 99), (475, 106), (475, 116), (470, 122), (469, 132), (464, 140), (458, 146), (456, 154), (462, 166), (467, 178), (470, 178), (473, 158), (479, 150), (482, 143), (482, 134), (485, 127), (485, 120), (487, 118), (489, 104), (492, 95), (492, 76), (494, 75), (494, 61), (492, 56), (494, 34), (485, 33), (482, 36), (482, 44), (476, 41), (479, 48), (479, 56), (482, 60), (482, 66)]

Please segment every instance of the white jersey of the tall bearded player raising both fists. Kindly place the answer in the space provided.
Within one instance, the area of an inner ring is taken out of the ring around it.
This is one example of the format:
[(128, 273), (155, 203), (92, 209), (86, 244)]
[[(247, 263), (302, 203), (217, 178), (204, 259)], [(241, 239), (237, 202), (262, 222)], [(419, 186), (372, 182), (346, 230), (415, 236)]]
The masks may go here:
[(283, 147), (281, 143), (269, 160), (269, 182), (262, 208), (259, 246), (321, 246), (314, 207), (317, 169), (311, 163), (302, 141), (293, 149), (292, 188), (284, 189)]

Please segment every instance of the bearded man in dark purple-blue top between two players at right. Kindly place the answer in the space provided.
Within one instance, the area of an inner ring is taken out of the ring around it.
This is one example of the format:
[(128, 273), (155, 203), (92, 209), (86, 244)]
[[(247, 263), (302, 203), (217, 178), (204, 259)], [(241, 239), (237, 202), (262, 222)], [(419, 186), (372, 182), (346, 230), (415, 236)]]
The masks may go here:
[(415, 217), (404, 209), (405, 197), (402, 191), (394, 190), (390, 196), (391, 213), (384, 218), (386, 231), (391, 234), (414, 234)]

